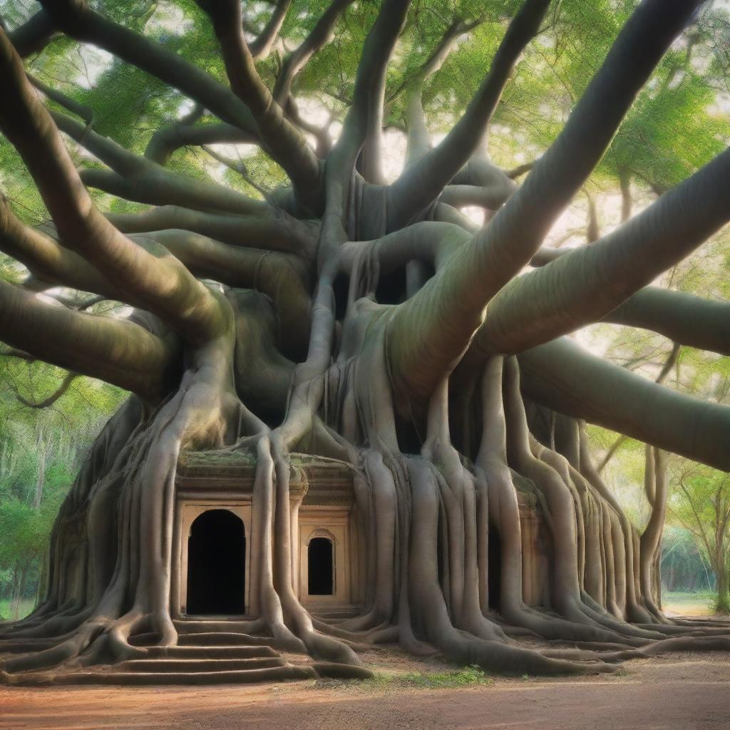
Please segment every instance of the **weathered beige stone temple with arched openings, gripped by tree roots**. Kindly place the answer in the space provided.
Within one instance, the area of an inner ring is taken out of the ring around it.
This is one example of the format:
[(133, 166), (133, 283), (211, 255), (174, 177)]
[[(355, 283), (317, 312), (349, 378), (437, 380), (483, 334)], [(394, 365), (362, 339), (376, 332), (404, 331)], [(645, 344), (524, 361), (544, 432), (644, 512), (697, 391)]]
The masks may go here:
[[(314, 615), (356, 615), (366, 602), (364, 520), (349, 464), (296, 456), (291, 460), (294, 591)], [(255, 464), (231, 453), (185, 455), (177, 469), (172, 542), (172, 615), (242, 618), (258, 615), (251, 556)], [(523, 595), (549, 605), (548, 532), (530, 493), (520, 493)], [(489, 546), (489, 603), (499, 608), (499, 539)]]

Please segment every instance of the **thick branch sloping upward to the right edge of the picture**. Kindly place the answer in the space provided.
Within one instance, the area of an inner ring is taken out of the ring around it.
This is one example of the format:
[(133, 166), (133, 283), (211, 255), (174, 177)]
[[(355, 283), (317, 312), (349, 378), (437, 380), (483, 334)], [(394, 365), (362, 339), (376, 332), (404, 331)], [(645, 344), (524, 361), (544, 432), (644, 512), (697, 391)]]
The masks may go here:
[(602, 320), (728, 220), (730, 150), (600, 241), (510, 281), (472, 346), (518, 353)]

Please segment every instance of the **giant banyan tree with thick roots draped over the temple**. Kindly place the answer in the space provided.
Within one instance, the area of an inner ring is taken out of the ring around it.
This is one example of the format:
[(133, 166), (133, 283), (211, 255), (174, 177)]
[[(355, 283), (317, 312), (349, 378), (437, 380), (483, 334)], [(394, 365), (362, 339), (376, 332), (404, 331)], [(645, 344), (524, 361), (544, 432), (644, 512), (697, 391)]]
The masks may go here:
[[(0, 131), (19, 159), (0, 180), (27, 170), (47, 211), (34, 225), (18, 196), (0, 202), (0, 250), (27, 274), (0, 281), (0, 339), (130, 393), (58, 515), (39, 607), (0, 626), (0, 677), (174, 656), (172, 520), (189, 453), (253, 465), (256, 611), (233, 633), (323, 672), (346, 674), (383, 642), (520, 674), (730, 649), (721, 622), (669, 620), (656, 600), (664, 452), (730, 469), (730, 408), (567, 337), (613, 322), (730, 354), (726, 304), (651, 285), (730, 220), (730, 153), (588, 245), (543, 247), (703, 2), (603, 3), (621, 18), (607, 53), (545, 152), (511, 172), (486, 153), (490, 122), (569, 3), (304, 5), (41, 0), (0, 31)], [(173, 20), (155, 26), (158, 6)], [(429, 47), (413, 42), (425, 19), (439, 28)], [(469, 55), (480, 84), (433, 134), (450, 98), (434, 83), (485, 23), (499, 34)], [(103, 51), (177, 118), (142, 149), (103, 134), (93, 88), (82, 98), (34, 75), (58, 47)], [(327, 73), (342, 113), (323, 120)], [(388, 180), (390, 128), (407, 153)], [(231, 161), (223, 143), (265, 164)], [(175, 164), (191, 151), (245, 185)], [(273, 189), (256, 179), (266, 165)], [(475, 206), (483, 225), (464, 215)], [(126, 316), (96, 313), (100, 299)], [(586, 423), (650, 445), (656, 516), (642, 535), (594, 466)], [(366, 552), (355, 616), (315, 615), (293, 590), (293, 455), (352, 475)], [(520, 493), (547, 535), (537, 606), (523, 596)], [(220, 657), (214, 643), (191, 656)]]

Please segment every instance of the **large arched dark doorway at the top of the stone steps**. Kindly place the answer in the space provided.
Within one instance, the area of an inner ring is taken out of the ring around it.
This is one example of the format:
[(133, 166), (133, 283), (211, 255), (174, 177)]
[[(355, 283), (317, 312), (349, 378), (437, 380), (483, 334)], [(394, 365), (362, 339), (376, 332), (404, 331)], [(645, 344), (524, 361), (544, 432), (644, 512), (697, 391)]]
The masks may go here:
[(241, 519), (228, 510), (203, 512), (193, 521), (188, 539), (188, 615), (241, 615), (245, 577)]

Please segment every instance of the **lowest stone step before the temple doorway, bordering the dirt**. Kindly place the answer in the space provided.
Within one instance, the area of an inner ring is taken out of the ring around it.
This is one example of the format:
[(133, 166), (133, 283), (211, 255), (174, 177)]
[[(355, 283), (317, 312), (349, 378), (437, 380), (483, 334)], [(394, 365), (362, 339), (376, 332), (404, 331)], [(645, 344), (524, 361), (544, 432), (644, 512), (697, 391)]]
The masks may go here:
[[(294, 682), (316, 679), (317, 676), (311, 666), (285, 664), (228, 672), (69, 672), (56, 675), (53, 682), (75, 685), (211, 685)], [(28, 680), (28, 684), (37, 683), (31, 677)]]

